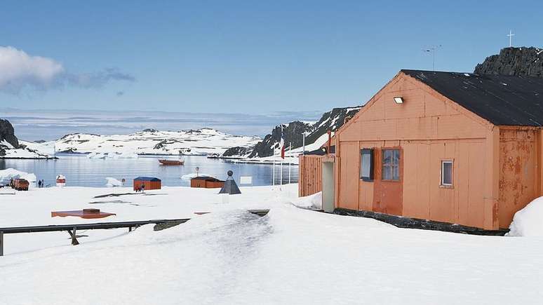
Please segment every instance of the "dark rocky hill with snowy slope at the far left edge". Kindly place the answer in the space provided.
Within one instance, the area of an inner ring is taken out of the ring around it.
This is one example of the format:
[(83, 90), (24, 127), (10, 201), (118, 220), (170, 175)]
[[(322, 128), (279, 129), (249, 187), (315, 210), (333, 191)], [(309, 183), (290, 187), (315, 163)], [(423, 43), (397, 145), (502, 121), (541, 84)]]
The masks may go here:
[(15, 137), (15, 130), (8, 120), (0, 118), (0, 158), (49, 158), (36, 149), (27, 147)]

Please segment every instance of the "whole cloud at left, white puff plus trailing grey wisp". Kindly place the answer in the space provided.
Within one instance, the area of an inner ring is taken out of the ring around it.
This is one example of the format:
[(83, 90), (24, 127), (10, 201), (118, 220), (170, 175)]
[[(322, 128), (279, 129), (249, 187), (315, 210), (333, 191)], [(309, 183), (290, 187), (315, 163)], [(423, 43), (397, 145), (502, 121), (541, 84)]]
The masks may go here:
[(26, 87), (40, 90), (62, 86), (100, 88), (109, 81), (135, 81), (135, 78), (115, 68), (69, 73), (51, 58), (28, 55), (12, 46), (0, 46), (0, 91), (6, 93), (19, 93)]

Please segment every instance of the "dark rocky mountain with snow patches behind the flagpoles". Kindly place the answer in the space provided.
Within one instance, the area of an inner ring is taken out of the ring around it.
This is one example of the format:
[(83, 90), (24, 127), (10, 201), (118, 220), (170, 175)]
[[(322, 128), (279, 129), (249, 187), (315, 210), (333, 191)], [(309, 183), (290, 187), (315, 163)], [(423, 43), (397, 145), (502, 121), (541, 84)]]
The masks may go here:
[(283, 139), (286, 146), (292, 143), (293, 149), (302, 147), (303, 134), (307, 133), (305, 138), (306, 150), (316, 149), (328, 139), (328, 130), (335, 132), (339, 129), (346, 118), (354, 116), (361, 107), (334, 108), (323, 114), (316, 123), (307, 123), (302, 121), (293, 121), (288, 124), (275, 126), (272, 133), (266, 135), (262, 142), (258, 142), (253, 147), (232, 147), (224, 151), (224, 157), (241, 158), (264, 158), (273, 156), (274, 150), (279, 149), (281, 141), (281, 126), (283, 126)]

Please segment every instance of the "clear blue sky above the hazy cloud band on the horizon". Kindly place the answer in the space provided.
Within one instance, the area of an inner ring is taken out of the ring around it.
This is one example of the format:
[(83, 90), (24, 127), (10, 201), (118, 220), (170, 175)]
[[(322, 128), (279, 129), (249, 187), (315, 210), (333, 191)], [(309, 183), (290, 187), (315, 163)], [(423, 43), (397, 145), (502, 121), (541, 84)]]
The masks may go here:
[(436, 69), (459, 72), (507, 46), (509, 29), (514, 45), (542, 46), (542, 11), (542, 1), (2, 1), (0, 45), (65, 76), (0, 91), (0, 107), (326, 111), (363, 104), (399, 69), (431, 69), (429, 45), (442, 45)]

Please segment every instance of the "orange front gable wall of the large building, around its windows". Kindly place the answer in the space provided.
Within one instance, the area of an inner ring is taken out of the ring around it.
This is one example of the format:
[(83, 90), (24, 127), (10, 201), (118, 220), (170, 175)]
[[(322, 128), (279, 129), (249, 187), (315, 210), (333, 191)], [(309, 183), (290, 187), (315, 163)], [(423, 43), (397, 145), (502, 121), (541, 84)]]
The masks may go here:
[[(394, 96), (405, 102), (395, 104)], [(495, 158), (489, 144), (494, 141), (492, 127), (426, 85), (398, 74), (336, 134), (340, 143), (336, 155), (341, 160), (336, 207), (493, 229), (492, 208), (489, 212), (486, 205), (494, 201), (485, 203), (485, 196), (494, 196), (492, 187), (497, 184), (490, 163), (485, 162)], [(402, 178), (396, 188), (384, 188), (385, 182), (380, 181), (379, 151), (375, 181), (358, 177), (360, 149), (382, 147), (402, 149)], [(453, 188), (440, 186), (443, 159), (454, 161)]]

